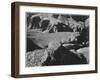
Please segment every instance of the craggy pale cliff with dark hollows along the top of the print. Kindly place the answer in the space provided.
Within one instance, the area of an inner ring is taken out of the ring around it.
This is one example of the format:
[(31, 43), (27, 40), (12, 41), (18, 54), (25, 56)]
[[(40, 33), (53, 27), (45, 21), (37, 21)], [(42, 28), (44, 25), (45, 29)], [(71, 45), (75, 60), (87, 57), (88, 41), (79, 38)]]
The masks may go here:
[(59, 14), (28, 14), (27, 27), (48, 32), (79, 31), (89, 24), (88, 16)]

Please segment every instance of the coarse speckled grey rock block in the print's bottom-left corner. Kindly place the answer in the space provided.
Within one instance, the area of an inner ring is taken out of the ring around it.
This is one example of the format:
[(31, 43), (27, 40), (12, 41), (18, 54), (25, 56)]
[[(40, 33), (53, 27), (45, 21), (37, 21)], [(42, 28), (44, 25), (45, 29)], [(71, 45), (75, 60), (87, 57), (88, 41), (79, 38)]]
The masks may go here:
[(26, 53), (26, 67), (42, 66), (47, 60), (48, 52), (46, 49), (30, 51)]

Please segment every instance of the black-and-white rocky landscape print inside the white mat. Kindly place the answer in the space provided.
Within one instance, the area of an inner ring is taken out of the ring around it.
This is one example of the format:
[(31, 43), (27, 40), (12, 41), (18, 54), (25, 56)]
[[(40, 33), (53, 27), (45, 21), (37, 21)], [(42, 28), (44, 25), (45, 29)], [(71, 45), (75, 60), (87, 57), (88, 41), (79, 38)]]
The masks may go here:
[(89, 15), (26, 12), (26, 67), (89, 64)]

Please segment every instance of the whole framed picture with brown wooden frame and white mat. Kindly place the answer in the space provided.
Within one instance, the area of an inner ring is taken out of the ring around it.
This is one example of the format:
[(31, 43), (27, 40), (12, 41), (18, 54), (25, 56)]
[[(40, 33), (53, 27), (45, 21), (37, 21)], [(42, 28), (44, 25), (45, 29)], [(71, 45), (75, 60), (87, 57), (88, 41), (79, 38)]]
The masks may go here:
[(97, 7), (12, 3), (12, 76), (97, 73)]

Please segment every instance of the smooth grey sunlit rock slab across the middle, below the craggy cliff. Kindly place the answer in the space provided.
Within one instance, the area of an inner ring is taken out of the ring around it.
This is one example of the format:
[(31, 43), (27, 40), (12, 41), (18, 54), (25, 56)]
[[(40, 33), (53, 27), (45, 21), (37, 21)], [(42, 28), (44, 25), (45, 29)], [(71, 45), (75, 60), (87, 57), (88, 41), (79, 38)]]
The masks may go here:
[(50, 42), (69, 43), (76, 41), (78, 36), (80, 36), (79, 32), (57, 32), (50, 34), (33, 32), (29, 33), (27, 37), (39, 47), (46, 48)]

